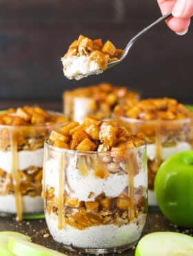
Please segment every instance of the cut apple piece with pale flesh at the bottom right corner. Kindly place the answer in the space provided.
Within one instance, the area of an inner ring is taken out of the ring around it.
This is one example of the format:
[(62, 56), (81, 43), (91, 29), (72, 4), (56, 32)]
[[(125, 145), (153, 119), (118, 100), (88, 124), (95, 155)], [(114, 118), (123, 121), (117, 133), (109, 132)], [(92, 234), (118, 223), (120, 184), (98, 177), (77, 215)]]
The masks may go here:
[(135, 256), (192, 256), (193, 237), (177, 232), (154, 232), (143, 237)]

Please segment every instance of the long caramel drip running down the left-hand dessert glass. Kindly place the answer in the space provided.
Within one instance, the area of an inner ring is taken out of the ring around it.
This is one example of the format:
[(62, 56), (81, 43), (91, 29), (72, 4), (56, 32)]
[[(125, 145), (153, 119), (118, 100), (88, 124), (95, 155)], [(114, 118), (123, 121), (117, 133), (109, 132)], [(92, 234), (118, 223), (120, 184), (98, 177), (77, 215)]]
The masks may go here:
[(14, 185), (14, 196), (17, 209), (17, 221), (22, 221), (22, 198), (20, 192), (20, 177), (18, 172), (18, 153), (17, 153), (17, 131), (12, 130), (11, 134), (11, 152), (12, 152), (12, 179)]

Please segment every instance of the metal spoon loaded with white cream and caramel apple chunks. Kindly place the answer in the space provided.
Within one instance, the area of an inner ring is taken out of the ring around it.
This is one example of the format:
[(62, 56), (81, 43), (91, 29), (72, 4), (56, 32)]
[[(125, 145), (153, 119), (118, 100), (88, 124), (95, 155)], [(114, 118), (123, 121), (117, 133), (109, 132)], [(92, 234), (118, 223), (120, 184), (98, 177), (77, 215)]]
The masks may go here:
[(99, 75), (108, 68), (122, 62), (137, 39), (161, 21), (172, 17), (172, 12), (156, 19), (152, 24), (136, 34), (124, 50), (116, 48), (109, 40), (103, 44), (101, 39), (90, 39), (80, 35), (70, 44), (67, 53), (61, 57), (63, 73), (70, 80), (80, 80), (88, 75)]

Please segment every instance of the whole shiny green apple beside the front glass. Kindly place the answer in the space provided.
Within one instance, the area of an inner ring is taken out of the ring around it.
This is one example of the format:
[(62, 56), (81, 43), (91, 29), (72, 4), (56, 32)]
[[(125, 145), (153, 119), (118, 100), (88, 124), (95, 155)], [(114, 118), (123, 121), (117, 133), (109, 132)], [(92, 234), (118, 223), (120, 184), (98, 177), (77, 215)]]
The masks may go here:
[(165, 217), (185, 228), (193, 227), (193, 151), (167, 158), (154, 182), (156, 200)]

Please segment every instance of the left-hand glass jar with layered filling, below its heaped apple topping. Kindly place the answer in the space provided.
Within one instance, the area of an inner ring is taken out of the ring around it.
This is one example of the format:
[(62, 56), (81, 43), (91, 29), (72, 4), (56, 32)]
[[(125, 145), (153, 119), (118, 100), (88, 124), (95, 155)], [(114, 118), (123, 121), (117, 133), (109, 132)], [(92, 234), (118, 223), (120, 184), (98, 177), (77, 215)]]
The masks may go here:
[[(54, 112), (50, 112), (54, 113)], [(54, 116), (62, 117), (61, 113)], [(43, 144), (61, 124), (0, 125), (0, 215), (43, 212)]]

